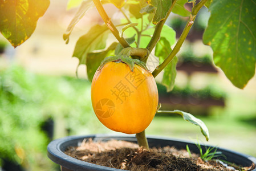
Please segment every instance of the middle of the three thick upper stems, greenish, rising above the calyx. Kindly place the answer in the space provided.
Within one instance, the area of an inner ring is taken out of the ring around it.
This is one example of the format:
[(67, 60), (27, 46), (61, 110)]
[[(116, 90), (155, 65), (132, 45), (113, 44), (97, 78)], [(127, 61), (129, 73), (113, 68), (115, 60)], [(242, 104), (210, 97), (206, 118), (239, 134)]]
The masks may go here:
[[(173, 6), (175, 5), (176, 1), (177, 0), (173, 1), (172, 6), (170, 6), (170, 9), (168, 10), (165, 18), (156, 25), (153, 36), (152, 36), (152, 38), (151, 38), (151, 40), (150, 40), (150, 42), (148, 43), (148, 46), (147, 46), (147, 49), (149, 50), (149, 52), (151, 52), (153, 50), (153, 48), (156, 46), (156, 43), (159, 41), (161, 31), (162, 31), (162, 27), (164, 26), (164, 23), (166, 22), (167, 18), (169, 17), (170, 12), (172, 11)], [(144, 59), (143, 62), (147, 62), (147, 60), (148, 60), (148, 56), (147, 56), (147, 58)]]

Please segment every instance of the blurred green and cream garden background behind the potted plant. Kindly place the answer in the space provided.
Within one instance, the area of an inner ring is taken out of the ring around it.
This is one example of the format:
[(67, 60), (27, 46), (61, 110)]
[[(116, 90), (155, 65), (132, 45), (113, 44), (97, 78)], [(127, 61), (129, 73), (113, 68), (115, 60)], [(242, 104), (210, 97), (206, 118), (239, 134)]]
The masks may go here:
[[(97, 120), (86, 66), (78, 68), (76, 78), (78, 59), (71, 58), (79, 36), (101, 19), (91, 10), (78, 23), (70, 43), (64, 44), (62, 34), (76, 11), (66, 11), (67, 1), (64, 2), (51, 2), (34, 34), (21, 47), (14, 50), (0, 35), (0, 170), (59, 170), (46, 155), (51, 140), (68, 135), (116, 133)], [(147, 135), (198, 139), (256, 157), (256, 78), (241, 90), (218, 68), (198, 71), (213, 65), (212, 50), (201, 41), (205, 17), (209, 14), (203, 9), (179, 54), (176, 87), (166, 93), (159, 86), (159, 92), (163, 109), (182, 109), (203, 120), (209, 128), (210, 141), (204, 140), (200, 128), (180, 116), (165, 114), (156, 115)], [(176, 15), (168, 21), (177, 30), (177, 37), (184, 21), (186, 18)], [(186, 63), (197, 69), (182, 68)], [(160, 78), (161, 75), (156, 80)], [(208, 99), (221, 102), (204, 104)]]

